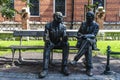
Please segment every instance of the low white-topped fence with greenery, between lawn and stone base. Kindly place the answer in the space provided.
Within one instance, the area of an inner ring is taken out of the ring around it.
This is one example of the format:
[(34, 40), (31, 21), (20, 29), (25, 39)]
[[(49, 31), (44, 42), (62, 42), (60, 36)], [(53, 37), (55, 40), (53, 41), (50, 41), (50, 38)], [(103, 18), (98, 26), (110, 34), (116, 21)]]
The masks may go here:
[[(40, 30), (43, 30), (43, 29), (40, 29)], [(72, 31), (77, 32), (78, 30), (76, 29)], [(13, 31), (0, 31), (0, 39), (14, 40), (12, 33)], [(77, 40), (77, 39), (74, 39), (74, 40)], [(99, 30), (99, 33), (97, 35), (97, 40), (120, 40), (120, 30)]]

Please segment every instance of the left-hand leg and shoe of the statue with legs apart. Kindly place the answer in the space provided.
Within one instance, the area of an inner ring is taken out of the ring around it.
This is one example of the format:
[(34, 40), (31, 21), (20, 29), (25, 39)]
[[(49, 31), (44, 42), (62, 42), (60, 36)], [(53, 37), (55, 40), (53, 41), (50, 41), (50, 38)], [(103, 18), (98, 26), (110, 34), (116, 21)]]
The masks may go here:
[(51, 48), (45, 46), (44, 54), (43, 54), (43, 70), (39, 75), (40, 78), (44, 78), (48, 74), (50, 51), (51, 51)]

